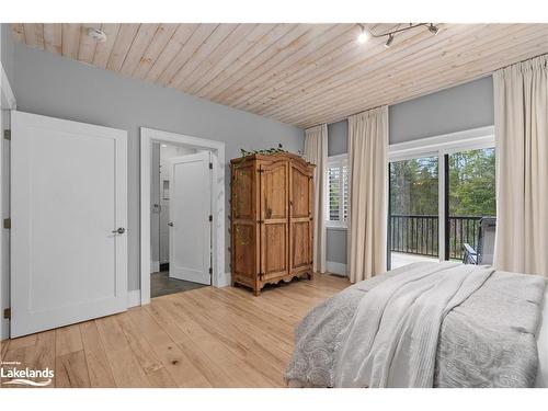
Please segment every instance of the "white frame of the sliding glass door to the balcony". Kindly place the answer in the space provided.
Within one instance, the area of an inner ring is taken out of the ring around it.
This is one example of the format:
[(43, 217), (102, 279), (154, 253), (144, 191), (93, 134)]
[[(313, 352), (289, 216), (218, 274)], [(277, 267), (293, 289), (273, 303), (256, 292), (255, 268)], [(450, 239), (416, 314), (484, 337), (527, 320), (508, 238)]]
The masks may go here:
[[(398, 142), (388, 146), (387, 156), (387, 270), (391, 267), (390, 256), (390, 163), (393, 161), (411, 160), (423, 157), (437, 157), (437, 213), (438, 213), (438, 258), (445, 261), (447, 256), (447, 214), (448, 214), (448, 156), (459, 151), (479, 150), (495, 147), (494, 126), (471, 128), (464, 132), (450, 133), (434, 137), (419, 138), (411, 141)], [(495, 160), (496, 161), (496, 160)]]

